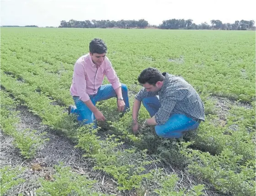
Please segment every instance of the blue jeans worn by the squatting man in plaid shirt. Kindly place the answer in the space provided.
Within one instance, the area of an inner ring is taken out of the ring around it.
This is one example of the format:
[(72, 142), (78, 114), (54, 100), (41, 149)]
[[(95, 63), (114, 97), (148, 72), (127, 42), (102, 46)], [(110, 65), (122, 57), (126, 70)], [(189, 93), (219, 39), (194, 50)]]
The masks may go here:
[[(151, 117), (160, 108), (160, 102), (157, 96), (143, 98), (142, 103)], [(179, 138), (185, 132), (197, 129), (199, 124), (200, 120), (193, 120), (184, 114), (171, 114), (165, 124), (155, 126), (155, 131), (160, 137)]]

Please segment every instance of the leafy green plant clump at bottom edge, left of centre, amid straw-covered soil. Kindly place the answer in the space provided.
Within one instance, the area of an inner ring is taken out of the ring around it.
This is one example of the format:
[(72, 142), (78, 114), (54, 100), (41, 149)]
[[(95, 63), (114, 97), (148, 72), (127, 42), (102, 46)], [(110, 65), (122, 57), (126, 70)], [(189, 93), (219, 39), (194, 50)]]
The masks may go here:
[(55, 169), (53, 181), (39, 180), (41, 187), (36, 191), (38, 196), (105, 196), (93, 191), (96, 180), (88, 180), (86, 176), (76, 174), (62, 164), (56, 165)]

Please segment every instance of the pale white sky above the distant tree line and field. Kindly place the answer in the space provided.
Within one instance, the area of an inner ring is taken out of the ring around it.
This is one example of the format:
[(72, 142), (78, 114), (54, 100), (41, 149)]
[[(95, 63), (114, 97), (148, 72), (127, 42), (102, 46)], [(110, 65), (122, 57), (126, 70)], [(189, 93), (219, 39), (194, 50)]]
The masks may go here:
[(221, 20), (256, 21), (256, 0), (1, 0), (0, 25), (58, 27), (60, 21), (192, 19), (196, 24)]

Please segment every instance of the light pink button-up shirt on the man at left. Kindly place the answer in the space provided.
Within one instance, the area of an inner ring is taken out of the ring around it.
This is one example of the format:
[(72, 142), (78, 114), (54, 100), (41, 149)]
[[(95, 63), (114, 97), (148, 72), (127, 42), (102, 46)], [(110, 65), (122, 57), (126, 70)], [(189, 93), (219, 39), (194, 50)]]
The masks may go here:
[(97, 94), (104, 76), (107, 76), (114, 89), (121, 87), (119, 78), (108, 57), (105, 57), (102, 65), (97, 70), (90, 54), (81, 56), (74, 66), (72, 85), (70, 87), (71, 95), (78, 96), (84, 102), (88, 101), (90, 99), (89, 95)]

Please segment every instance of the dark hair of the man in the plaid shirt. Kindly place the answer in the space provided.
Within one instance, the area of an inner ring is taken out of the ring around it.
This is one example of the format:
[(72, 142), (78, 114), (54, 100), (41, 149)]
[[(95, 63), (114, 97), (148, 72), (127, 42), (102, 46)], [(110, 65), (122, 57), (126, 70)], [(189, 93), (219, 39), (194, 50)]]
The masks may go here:
[(163, 80), (164, 80), (164, 76), (162, 75), (162, 73), (158, 69), (152, 68), (152, 67), (148, 67), (144, 69), (141, 72), (141, 74), (138, 76), (138, 81), (141, 84), (145, 84), (147, 82), (151, 85), (156, 85), (158, 81), (163, 81)]

